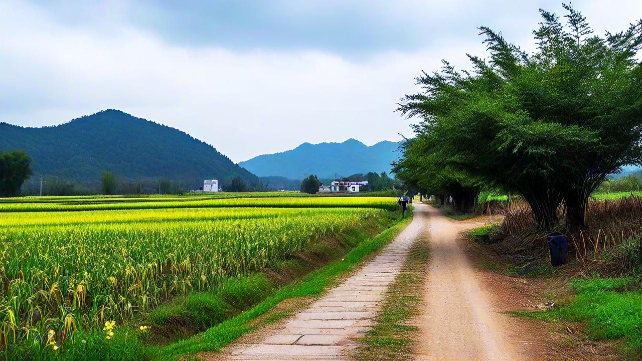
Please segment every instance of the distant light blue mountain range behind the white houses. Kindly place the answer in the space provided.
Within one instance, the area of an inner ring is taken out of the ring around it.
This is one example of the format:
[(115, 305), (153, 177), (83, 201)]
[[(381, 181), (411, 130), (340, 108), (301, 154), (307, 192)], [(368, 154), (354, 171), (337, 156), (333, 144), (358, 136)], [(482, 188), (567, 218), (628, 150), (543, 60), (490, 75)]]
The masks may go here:
[(304, 179), (310, 174), (319, 178), (347, 177), (354, 173), (390, 172), (390, 163), (399, 157), (395, 152), (401, 142), (382, 141), (367, 146), (356, 139), (343, 143), (303, 143), (297, 148), (265, 154), (239, 163), (250, 172), (265, 177), (278, 175)]

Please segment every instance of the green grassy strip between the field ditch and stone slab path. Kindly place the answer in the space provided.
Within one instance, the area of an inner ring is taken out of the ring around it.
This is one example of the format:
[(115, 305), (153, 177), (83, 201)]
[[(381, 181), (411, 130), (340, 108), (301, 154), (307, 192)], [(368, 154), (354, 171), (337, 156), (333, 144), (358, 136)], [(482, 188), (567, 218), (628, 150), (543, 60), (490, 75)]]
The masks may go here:
[(220, 349), (234, 342), (234, 340), (242, 335), (257, 330), (275, 321), (277, 318), (286, 317), (287, 313), (281, 313), (274, 317), (268, 317), (262, 322), (252, 322), (257, 319), (257, 317), (265, 315), (277, 304), (286, 299), (322, 294), (325, 288), (333, 285), (338, 277), (345, 274), (345, 272), (354, 269), (368, 254), (381, 249), (383, 245), (390, 242), (411, 219), (412, 217), (407, 217), (374, 238), (361, 240), (341, 261), (336, 261), (330, 265), (314, 270), (290, 285), (279, 288), (273, 295), (265, 299), (265, 301), (256, 304), (256, 306), (250, 308), (247, 312), (223, 321), (189, 339), (180, 340), (164, 348), (148, 349), (148, 357), (153, 360), (177, 360), (179, 357), (194, 355), (202, 351), (220, 351)]

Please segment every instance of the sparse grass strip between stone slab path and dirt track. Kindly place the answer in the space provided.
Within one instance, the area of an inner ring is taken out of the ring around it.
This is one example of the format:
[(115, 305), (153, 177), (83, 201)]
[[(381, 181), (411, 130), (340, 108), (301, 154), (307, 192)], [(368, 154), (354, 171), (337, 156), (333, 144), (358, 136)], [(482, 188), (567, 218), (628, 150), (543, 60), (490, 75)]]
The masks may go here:
[(355, 360), (409, 360), (419, 329), (410, 321), (420, 312), (421, 288), (428, 270), (428, 243), (413, 245), (402, 273), (386, 294), (376, 326), (360, 339)]

